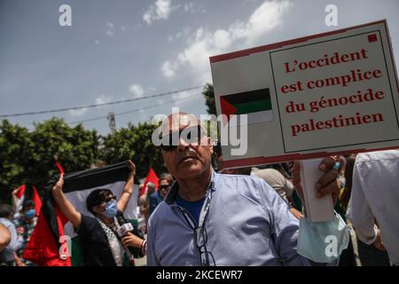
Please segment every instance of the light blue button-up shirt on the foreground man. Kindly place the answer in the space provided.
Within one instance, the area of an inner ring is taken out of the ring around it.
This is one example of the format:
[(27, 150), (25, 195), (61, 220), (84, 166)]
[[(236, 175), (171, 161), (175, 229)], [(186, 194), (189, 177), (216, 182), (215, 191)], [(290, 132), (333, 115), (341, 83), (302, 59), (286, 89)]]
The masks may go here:
[[(148, 224), (148, 265), (201, 265), (190, 214), (175, 183)], [(187, 216), (189, 216), (187, 218)], [(299, 221), (259, 177), (213, 172), (200, 213), (216, 265), (309, 265), (297, 253)]]

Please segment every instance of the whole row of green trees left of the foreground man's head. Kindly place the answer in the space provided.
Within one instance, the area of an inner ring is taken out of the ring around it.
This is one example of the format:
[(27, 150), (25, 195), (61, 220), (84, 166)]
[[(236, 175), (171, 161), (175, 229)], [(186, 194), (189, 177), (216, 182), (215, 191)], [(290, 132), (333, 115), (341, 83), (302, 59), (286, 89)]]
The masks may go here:
[(24, 184), (35, 185), (41, 193), (49, 177), (59, 173), (54, 156), (66, 172), (131, 159), (136, 163), (138, 178), (146, 177), (149, 167), (160, 174), (166, 167), (160, 149), (153, 146), (151, 137), (155, 129), (155, 125), (147, 122), (129, 124), (102, 138), (95, 130), (85, 130), (81, 124), (70, 127), (59, 118), (37, 123), (30, 132), (3, 120), (0, 122), (0, 201), (10, 202), (12, 190)]

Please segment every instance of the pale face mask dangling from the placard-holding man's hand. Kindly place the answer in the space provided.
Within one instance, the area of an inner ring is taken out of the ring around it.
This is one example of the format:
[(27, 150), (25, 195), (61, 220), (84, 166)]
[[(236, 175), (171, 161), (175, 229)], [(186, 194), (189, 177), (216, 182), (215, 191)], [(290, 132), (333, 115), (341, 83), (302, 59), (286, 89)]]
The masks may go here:
[(311, 223), (301, 218), (297, 251), (317, 263), (330, 264), (348, 248), (350, 234), (340, 215), (332, 221)]

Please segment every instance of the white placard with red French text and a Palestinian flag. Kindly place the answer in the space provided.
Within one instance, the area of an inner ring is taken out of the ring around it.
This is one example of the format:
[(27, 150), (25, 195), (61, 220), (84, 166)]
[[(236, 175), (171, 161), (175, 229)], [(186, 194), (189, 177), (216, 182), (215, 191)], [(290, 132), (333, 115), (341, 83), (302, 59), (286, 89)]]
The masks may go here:
[(217, 114), (248, 115), (246, 153), (222, 145), (224, 168), (399, 147), (385, 20), (210, 61)]

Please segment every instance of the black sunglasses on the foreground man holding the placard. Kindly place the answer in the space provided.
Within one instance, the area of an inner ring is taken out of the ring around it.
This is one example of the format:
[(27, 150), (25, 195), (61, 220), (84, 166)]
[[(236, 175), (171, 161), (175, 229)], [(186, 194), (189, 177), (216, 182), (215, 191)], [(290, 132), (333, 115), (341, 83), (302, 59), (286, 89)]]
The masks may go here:
[[(183, 132), (184, 135), (182, 135)], [(179, 145), (180, 138), (182, 138), (185, 143), (192, 144), (198, 143), (204, 136), (205, 132), (200, 125), (190, 126), (183, 130), (170, 132), (168, 135), (161, 137), (162, 143), (160, 144), (160, 148), (167, 152), (174, 151)]]

